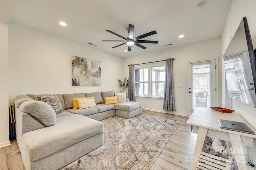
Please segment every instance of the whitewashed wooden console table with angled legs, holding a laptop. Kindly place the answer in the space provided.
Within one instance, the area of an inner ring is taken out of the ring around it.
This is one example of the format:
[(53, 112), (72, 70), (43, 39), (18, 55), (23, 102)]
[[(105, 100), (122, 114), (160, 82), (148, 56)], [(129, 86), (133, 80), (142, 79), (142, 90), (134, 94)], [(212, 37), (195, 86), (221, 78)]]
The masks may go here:
[[(253, 138), (256, 135), (242, 133), (238, 131), (231, 131), (221, 129), (218, 123), (218, 119), (225, 119), (230, 121), (245, 122), (238, 113), (222, 113), (212, 110), (211, 108), (196, 107), (192, 115), (187, 121), (188, 125), (191, 125), (193, 133), (197, 133), (196, 147), (194, 150), (193, 160), (198, 160), (200, 152), (202, 150), (204, 139), (206, 136), (222, 139), (224, 141), (230, 141), (232, 147), (235, 149), (234, 156), (239, 170), (247, 169), (245, 155), (242, 149), (242, 145), (249, 147), (253, 146)], [(246, 123), (248, 125), (248, 123)], [(248, 125), (255, 133), (256, 131)], [(191, 165), (192, 170), (196, 170), (197, 161), (193, 161)]]

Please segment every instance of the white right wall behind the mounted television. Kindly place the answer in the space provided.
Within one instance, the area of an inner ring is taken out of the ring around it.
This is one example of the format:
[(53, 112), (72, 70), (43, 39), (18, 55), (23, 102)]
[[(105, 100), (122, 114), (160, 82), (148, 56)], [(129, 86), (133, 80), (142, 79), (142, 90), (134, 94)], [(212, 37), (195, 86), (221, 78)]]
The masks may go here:
[[(228, 12), (228, 18), (222, 33), (222, 55), (228, 47), (230, 39), (234, 36), (238, 25), (243, 17), (247, 18), (252, 39), (256, 37), (256, 1), (234, 0)], [(255, 48), (255, 44), (254, 44)], [(223, 63), (223, 59), (222, 59)], [(222, 88), (225, 87), (224, 81), (224, 67), (222, 67)], [(223, 90), (224, 93), (224, 90)], [(223, 95), (222, 105), (225, 106), (225, 98)], [(237, 100), (231, 101), (231, 108), (238, 112), (255, 130), (256, 130), (256, 108), (238, 102)], [(254, 139), (254, 147), (247, 147), (247, 157), (251, 155), (256, 160), (256, 139)]]

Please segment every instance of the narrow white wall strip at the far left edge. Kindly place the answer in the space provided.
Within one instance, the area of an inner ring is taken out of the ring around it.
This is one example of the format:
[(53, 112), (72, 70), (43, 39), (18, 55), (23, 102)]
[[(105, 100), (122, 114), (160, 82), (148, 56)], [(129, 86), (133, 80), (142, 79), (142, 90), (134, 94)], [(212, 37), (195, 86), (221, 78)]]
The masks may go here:
[(10, 145), (8, 104), (8, 24), (0, 23), (0, 147)]

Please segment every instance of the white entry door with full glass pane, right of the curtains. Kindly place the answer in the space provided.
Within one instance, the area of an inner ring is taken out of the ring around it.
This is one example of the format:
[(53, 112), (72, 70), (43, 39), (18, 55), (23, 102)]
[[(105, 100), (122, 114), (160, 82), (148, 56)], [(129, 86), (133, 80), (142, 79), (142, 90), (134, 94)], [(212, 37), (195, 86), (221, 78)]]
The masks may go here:
[(216, 107), (216, 60), (188, 63), (188, 115), (196, 107)]

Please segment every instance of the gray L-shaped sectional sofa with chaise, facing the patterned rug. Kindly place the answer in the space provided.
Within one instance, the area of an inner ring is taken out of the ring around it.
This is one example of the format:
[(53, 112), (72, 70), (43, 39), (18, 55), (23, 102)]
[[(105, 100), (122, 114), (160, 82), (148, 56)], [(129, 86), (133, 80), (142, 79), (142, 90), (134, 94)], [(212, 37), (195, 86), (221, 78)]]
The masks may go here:
[[(14, 100), (16, 138), (26, 170), (57, 170), (103, 145), (100, 121), (113, 116), (130, 119), (142, 113), (139, 102), (104, 104), (114, 91), (58, 94), (60, 113), (37, 96)], [(94, 97), (95, 107), (73, 109), (73, 98)]]

